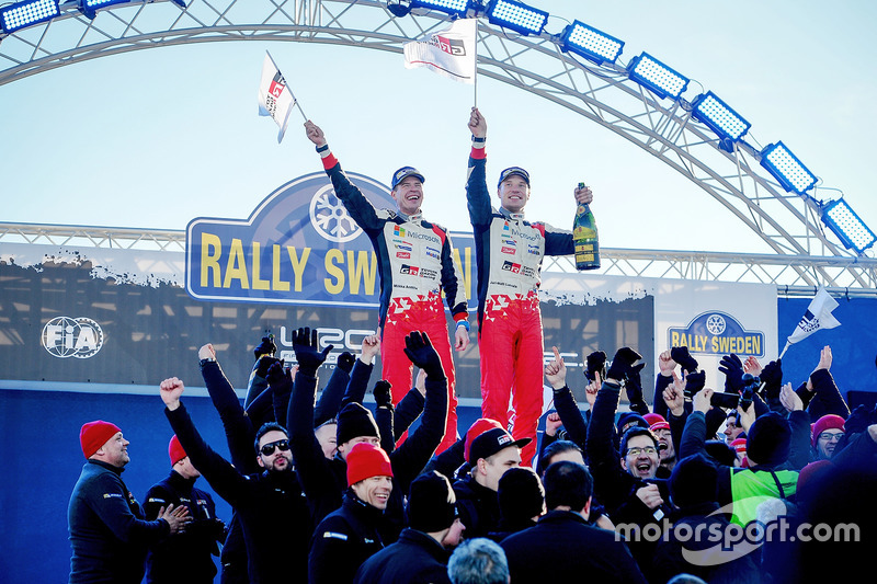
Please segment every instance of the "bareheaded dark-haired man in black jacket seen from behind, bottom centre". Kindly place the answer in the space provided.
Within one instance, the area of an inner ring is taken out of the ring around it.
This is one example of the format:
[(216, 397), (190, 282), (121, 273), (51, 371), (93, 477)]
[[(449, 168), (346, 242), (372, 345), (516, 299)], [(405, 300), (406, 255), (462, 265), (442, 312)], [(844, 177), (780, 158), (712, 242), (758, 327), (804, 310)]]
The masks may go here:
[(582, 465), (561, 461), (545, 471), (548, 513), (535, 527), (503, 539), (512, 582), (642, 583), (624, 540), (588, 525), (593, 480)]

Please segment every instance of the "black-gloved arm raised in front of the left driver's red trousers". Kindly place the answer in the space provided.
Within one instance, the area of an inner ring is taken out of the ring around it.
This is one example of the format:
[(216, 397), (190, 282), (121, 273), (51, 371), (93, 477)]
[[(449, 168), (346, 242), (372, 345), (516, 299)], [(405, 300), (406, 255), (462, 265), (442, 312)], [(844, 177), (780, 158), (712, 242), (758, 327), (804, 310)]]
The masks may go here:
[(405, 342), (405, 354), (411, 363), (426, 371), (426, 399), (420, 426), (389, 455), (394, 483), (400, 493), (409, 491), (411, 481), (423, 471), (441, 444), (447, 415), (447, 377), (429, 335), (414, 331), (406, 336)]

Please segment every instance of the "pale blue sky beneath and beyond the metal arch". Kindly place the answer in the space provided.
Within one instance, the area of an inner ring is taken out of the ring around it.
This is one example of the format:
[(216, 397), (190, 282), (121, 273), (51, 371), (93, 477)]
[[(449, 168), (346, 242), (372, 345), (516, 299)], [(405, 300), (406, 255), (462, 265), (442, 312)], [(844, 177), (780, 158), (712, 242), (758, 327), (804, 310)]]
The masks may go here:
[[(877, 5), (532, 4), (625, 41), (623, 62), (647, 50), (713, 90), (752, 123), (760, 145), (782, 139), (877, 229), (868, 153)], [(389, 182), (413, 164), (426, 175), (425, 215), (469, 229), (470, 85), (405, 69), (397, 54), (252, 42), (140, 50), (0, 87), (0, 219), (183, 229), (194, 217), (247, 217), (281, 184), (319, 171), (297, 113), (281, 145), (273, 122), (257, 115), (265, 49), (344, 168)], [(696, 185), (596, 124), (487, 78), (478, 105), (489, 175), (520, 164), (533, 176), (528, 218), (568, 227), (572, 187), (585, 181), (604, 247), (768, 252)]]

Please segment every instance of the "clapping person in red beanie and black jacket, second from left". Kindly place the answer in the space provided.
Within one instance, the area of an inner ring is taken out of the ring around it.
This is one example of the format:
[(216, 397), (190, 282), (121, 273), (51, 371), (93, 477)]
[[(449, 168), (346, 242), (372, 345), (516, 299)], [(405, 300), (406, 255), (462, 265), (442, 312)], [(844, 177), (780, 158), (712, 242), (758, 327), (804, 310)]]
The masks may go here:
[(171, 473), (147, 491), (144, 514), (152, 519), (164, 507), (182, 505), (189, 508), (192, 523), (185, 533), (170, 536), (150, 548), (146, 581), (149, 584), (213, 584), (216, 564), (212, 557), (219, 556), (218, 543), (225, 540), (226, 526), (216, 517), (210, 494), (195, 488), (201, 473), (192, 466), (176, 436), (168, 445), (168, 456)]

